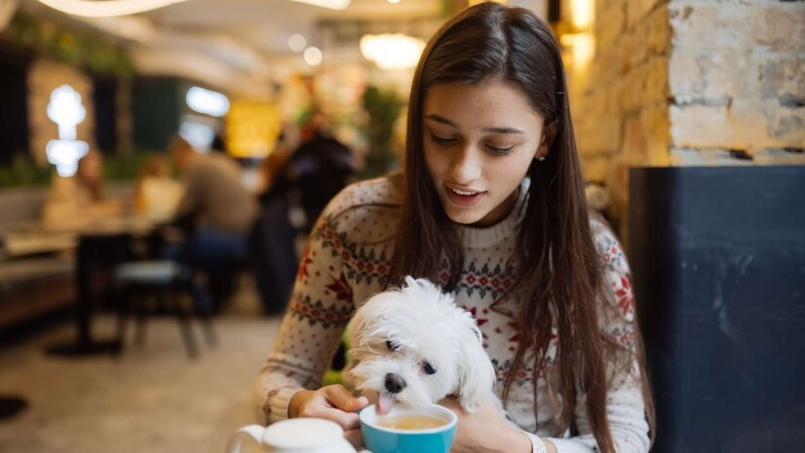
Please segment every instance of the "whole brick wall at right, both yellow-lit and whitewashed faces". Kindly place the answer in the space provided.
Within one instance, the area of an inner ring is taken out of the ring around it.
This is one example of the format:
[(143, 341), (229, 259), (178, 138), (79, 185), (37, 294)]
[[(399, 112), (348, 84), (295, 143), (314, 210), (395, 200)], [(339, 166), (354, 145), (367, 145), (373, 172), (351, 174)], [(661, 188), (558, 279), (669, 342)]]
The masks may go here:
[(805, 164), (805, 2), (597, 0), (593, 34), (570, 96), (617, 218), (632, 165)]

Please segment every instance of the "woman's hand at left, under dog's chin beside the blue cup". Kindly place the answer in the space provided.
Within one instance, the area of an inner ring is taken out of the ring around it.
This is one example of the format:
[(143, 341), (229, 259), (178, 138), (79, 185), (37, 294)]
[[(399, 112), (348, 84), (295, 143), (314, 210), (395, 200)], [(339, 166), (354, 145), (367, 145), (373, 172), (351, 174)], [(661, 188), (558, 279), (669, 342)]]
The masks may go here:
[(361, 423), (356, 411), (369, 405), (366, 397), (353, 397), (343, 385), (328, 385), (318, 390), (300, 390), (288, 404), (288, 417), (325, 418), (341, 425), (344, 437), (361, 450)]

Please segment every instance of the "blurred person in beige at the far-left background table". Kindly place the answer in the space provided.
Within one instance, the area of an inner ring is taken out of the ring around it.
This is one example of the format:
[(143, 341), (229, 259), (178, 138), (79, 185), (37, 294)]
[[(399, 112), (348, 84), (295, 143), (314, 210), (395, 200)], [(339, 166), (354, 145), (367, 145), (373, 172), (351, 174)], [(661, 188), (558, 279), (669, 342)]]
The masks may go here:
[(49, 230), (75, 230), (120, 214), (120, 202), (104, 193), (103, 155), (90, 150), (78, 160), (75, 176), (54, 175), (42, 221)]

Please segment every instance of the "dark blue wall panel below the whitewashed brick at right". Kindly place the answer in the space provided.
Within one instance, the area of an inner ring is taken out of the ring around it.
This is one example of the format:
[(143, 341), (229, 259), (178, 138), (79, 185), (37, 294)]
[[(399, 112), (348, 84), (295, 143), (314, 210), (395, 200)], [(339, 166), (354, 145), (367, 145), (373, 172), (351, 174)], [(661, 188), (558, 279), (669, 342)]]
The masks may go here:
[(802, 451), (805, 166), (633, 168), (656, 453)]

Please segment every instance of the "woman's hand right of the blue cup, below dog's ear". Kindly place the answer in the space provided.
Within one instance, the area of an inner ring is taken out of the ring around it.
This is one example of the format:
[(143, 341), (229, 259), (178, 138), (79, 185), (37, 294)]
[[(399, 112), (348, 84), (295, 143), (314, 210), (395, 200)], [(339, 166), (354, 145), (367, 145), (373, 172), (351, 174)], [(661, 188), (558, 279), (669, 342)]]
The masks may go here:
[(497, 452), (530, 453), (531, 440), (522, 431), (514, 430), (497, 412), (492, 401), (481, 401), (476, 411), (469, 414), (452, 397), (439, 401), (440, 405), (458, 415), (452, 453)]

